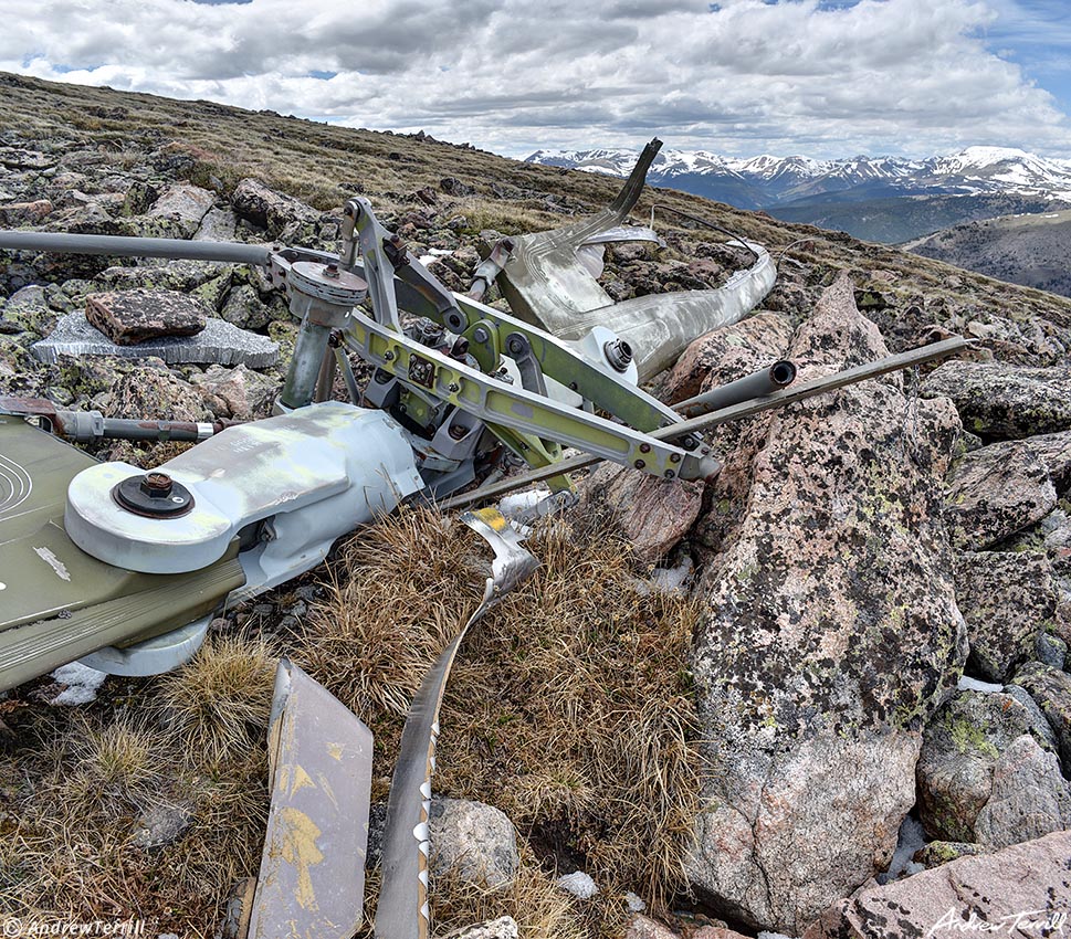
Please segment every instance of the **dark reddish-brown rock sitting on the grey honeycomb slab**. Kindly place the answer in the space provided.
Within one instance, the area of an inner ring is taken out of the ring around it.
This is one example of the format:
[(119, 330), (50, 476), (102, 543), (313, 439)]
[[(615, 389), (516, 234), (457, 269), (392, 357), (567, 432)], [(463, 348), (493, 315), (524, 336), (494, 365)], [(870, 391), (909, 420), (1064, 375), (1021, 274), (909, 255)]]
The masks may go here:
[(85, 318), (113, 342), (135, 346), (167, 336), (196, 336), (204, 307), (178, 291), (118, 291), (86, 298)]

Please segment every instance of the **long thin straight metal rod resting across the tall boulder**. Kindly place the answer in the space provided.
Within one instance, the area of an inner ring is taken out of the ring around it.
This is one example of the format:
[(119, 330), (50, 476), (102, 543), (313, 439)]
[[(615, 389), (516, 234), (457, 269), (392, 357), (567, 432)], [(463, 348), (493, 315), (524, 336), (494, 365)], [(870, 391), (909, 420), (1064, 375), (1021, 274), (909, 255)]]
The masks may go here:
[[(855, 366), (855, 368), (846, 369), (844, 371), (839, 371), (833, 374), (827, 374), (811, 381), (805, 381), (802, 384), (798, 384), (795, 388), (786, 388), (783, 391), (776, 391), (773, 394), (767, 394), (763, 398), (755, 398), (750, 401), (742, 401), (738, 404), (733, 404), (728, 408), (723, 408), (720, 411), (703, 414), (699, 418), (692, 418), (687, 421), (681, 421), (680, 423), (671, 424), (668, 428), (660, 428), (657, 431), (651, 431), (649, 436), (660, 440), (672, 440), (689, 433), (700, 433), (702, 431), (707, 431), (711, 428), (716, 428), (720, 424), (728, 423), (729, 421), (739, 421), (744, 418), (750, 418), (755, 414), (762, 413), (763, 411), (769, 411), (771, 408), (785, 408), (788, 404), (795, 404), (797, 401), (815, 398), (818, 394), (825, 394), (827, 391), (836, 391), (837, 389), (844, 388), (848, 384), (857, 384), (860, 381), (867, 381), (871, 378), (880, 378), (881, 376), (888, 374), (891, 371), (900, 371), (901, 369), (921, 366), (926, 362), (935, 361), (936, 359), (945, 359), (949, 356), (956, 355), (956, 352), (962, 352), (969, 347), (969, 340), (964, 339), (962, 336), (955, 336), (952, 339), (944, 339), (941, 342), (932, 342), (928, 346), (922, 346), (907, 352), (888, 356), (884, 359), (879, 359), (876, 362), (865, 362), (864, 365)], [(594, 464), (600, 462), (601, 460), (598, 456), (579, 454), (578, 456), (570, 457), (569, 460), (553, 463), (550, 466), (533, 470), (528, 473), (523, 473), (519, 476), (514, 476), (511, 479), (503, 479), (501, 483), (496, 483), (493, 486), (481, 486), (479, 489), (462, 493), (461, 495), (437, 503), (437, 505), (443, 511), (454, 508), (465, 508), (466, 506), (474, 505), (475, 503), (496, 498), (505, 493), (511, 493), (514, 489), (523, 488), (531, 483), (538, 483), (544, 479), (553, 478), (554, 476), (560, 476), (563, 473), (573, 473), (577, 470), (584, 470), (587, 466), (592, 466)]]

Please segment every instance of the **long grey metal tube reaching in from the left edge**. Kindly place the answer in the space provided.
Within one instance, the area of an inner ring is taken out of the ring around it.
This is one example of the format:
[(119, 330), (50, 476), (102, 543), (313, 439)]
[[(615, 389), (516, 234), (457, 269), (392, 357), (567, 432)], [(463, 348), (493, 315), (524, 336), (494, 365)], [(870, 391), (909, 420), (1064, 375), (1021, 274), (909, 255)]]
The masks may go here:
[(174, 238), (119, 238), (55, 232), (0, 231), (0, 249), (53, 251), (66, 254), (105, 254), (115, 257), (170, 257), (189, 261), (224, 261), (266, 266), (272, 246), (233, 241), (186, 241)]

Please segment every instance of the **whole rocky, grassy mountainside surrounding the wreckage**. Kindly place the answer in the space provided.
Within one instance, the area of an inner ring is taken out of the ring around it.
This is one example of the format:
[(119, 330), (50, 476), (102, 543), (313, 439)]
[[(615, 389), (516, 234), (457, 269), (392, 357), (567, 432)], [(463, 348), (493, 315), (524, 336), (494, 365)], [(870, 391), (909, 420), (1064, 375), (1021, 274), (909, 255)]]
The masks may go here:
[[(487, 230), (560, 224), (612, 191), (428, 138), (3, 81), (2, 107), (24, 115), (0, 131), (3, 226), (333, 249), (338, 207), (364, 191), (464, 289)], [(316, 160), (346, 148), (361, 172), (336, 162), (332, 178)], [(780, 272), (762, 310), (657, 379), (666, 401), (783, 357), (806, 380), (949, 334), (977, 348), (718, 429), (710, 484), (616, 467), (586, 481), (573, 541), (536, 539), (547, 576), (481, 626), (452, 685), (440, 925), (892, 937), (954, 935), (930, 931), (949, 909), (960, 925), (1067, 911), (1071, 302), (680, 193), (645, 193), (637, 218), (655, 202), (768, 244)], [(610, 250), (615, 299), (747, 263), (722, 235), (655, 222), (666, 247)], [(295, 336), (285, 298), (244, 265), (0, 253), (0, 393), (109, 416), (263, 416)], [(165, 302), (233, 328), (230, 345), (166, 361), (70, 355), (53, 337), (86, 310), (103, 324)], [(96, 453), (151, 466), (177, 446)], [(255, 871), (256, 741), (281, 650), (376, 730), (381, 801), (399, 711), (479, 583), (475, 560), (443, 551), (443, 525), (418, 514), (366, 534), (329, 580), (230, 611), (196, 666), (109, 680), (84, 714), (49, 704), (54, 682), (0, 701), (0, 911), (148, 910), (161, 931), (213, 935), (231, 883)], [(683, 587), (661, 592), (671, 571)], [(375, 579), (412, 615), (374, 614)], [(561, 669), (574, 680), (548, 680)], [(181, 784), (160, 817), (148, 793), (165, 759)], [(64, 805), (93, 826), (72, 840)]]

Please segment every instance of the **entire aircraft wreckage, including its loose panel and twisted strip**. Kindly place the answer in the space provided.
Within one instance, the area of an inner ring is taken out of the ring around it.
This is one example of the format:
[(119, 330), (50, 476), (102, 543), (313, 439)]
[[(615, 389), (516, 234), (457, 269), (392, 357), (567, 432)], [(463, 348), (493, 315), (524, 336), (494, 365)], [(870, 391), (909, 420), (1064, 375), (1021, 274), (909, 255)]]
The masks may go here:
[[(550, 495), (532, 510), (546, 514), (571, 504), (569, 473), (599, 460), (665, 479), (708, 477), (718, 464), (704, 431), (966, 348), (947, 339), (802, 384), (792, 383), (790, 362), (774, 362), (675, 410), (645, 393), (640, 382), (693, 339), (745, 316), (776, 276), (766, 249), (734, 239), (753, 263), (722, 287), (610, 299), (597, 279), (602, 247), (658, 238), (626, 221), (660, 146), (648, 145), (602, 211), (495, 244), (465, 295), (411, 257), (365, 199), (345, 207), (337, 255), (0, 232), (0, 249), (12, 251), (260, 265), (301, 321), (276, 413), (265, 420), (225, 429), (119, 421), (0, 399), (0, 689), (75, 660), (118, 675), (176, 668), (224, 604), (309, 570), (337, 538), (403, 502), (452, 510), (546, 479)], [(492, 282), (512, 314), (481, 302)], [(348, 352), (374, 368), (365, 388)], [(328, 400), (336, 369), (350, 403)], [(200, 442), (144, 472), (60, 440), (113, 436)], [(580, 455), (564, 458), (564, 446)], [(527, 472), (506, 476), (518, 463)], [(461, 518), (491, 545), (492, 577), (406, 722), (388, 804), (381, 939), (429, 932), (428, 810), (443, 688), (465, 630), (535, 568), (497, 510)], [(371, 732), (284, 660), (270, 741), (272, 806), (243, 935), (345, 939), (363, 912)], [(296, 785), (297, 774), (308, 784)]]

